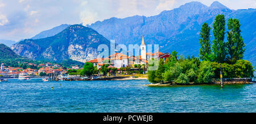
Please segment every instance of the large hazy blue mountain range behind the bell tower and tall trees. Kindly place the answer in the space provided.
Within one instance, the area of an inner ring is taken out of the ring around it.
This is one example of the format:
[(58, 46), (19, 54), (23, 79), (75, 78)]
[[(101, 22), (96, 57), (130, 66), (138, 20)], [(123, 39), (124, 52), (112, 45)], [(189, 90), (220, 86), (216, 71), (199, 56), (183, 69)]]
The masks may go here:
[[(207, 22), (212, 27), (218, 14), (224, 14), (226, 22), (229, 18), (240, 20), (241, 34), (246, 44), (245, 59), (256, 65), (256, 9), (231, 10), (217, 1), (210, 6), (189, 2), (155, 16), (110, 18), (87, 27), (93, 28), (109, 40), (115, 39), (118, 44), (141, 44), (144, 36), (146, 44), (159, 44), (162, 52), (175, 50), (184, 56), (198, 56), (201, 26)], [(212, 34), (211, 40), (213, 38)]]

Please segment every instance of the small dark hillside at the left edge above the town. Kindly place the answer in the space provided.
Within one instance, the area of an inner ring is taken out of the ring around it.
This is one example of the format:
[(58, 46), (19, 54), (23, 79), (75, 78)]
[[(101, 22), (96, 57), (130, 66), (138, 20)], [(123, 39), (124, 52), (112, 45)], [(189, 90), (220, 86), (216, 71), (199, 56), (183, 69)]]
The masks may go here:
[(19, 55), (11, 50), (10, 47), (7, 47), (5, 44), (0, 44), (0, 59), (16, 59)]

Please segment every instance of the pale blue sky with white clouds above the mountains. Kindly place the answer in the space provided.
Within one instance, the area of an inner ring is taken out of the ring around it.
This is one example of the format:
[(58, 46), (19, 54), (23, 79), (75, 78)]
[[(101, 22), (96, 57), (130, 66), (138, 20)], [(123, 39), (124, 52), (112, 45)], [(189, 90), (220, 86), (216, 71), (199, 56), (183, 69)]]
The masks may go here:
[[(92, 24), (112, 17), (152, 16), (192, 0), (0, 0), (0, 39), (32, 38), (60, 24)], [(197, 0), (204, 5), (216, 0)], [(256, 0), (219, 0), (230, 9), (256, 8)]]

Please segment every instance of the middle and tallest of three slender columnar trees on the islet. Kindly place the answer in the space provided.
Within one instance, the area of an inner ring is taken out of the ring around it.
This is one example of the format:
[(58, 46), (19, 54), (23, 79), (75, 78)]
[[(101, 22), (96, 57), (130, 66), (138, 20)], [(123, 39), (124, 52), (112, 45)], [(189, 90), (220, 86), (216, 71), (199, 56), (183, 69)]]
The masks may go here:
[(225, 47), (225, 17), (224, 15), (217, 15), (213, 23), (213, 57), (214, 61), (218, 63), (224, 63), (226, 57)]

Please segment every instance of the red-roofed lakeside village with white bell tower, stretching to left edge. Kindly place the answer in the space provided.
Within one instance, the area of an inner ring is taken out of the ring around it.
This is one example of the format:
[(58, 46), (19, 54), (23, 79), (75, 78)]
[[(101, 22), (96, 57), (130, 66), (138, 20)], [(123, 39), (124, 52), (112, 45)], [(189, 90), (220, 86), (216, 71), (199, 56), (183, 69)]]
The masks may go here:
[[(146, 52), (146, 44), (144, 42), (144, 38), (142, 37), (141, 42), (141, 55), (139, 56), (127, 56), (121, 53), (114, 53), (105, 58), (96, 58), (87, 63), (92, 63), (93, 67), (97, 69), (98, 77), (110, 77), (115, 76), (115, 78), (119, 78), (118, 76), (127, 75), (129, 76), (134, 74), (142, 74), (146, 77), (147, 68), (148, 68), (148, 60), (151, 59), (164, 59), (170, 57), (170, 53), (162, 53), (162, 52)], [(77, 73), (81, 71), (83, 68), (79, 68), (78, 65), (72, 66), (72, 68), (61, 67), (59, 64), (52, 63), (44, 63), (44, 64), (34, 64), (34, 63), (23, 63), (26, 64), (27, 67), (34, 66), (39, 69), (31, 69), (31, 68), (15, 68), (15, 67), (6, 67), (4, 63), (1, 64), (0, 69), (0, 78), (19, 78), (21, 80), (30, 80), (31, 77), (46, 77), (43, 81), (50, 80), (88, 80), (88, 77), (84, 78)], [(101, 70), (102, 66), (108, 64), (108, 72), (109, 75), (104, 75), (105, 73)], [(129, 69), (129, 70), (128, 70)], [(95, 73), (93, 73), (95, 74)], [(95, 75), (94, 75), (95, 76)], [(90, 77), (92, 79), (93, 77)], [(146, 78), (143, 78), (146, 79)]]

